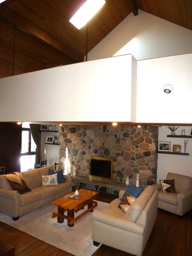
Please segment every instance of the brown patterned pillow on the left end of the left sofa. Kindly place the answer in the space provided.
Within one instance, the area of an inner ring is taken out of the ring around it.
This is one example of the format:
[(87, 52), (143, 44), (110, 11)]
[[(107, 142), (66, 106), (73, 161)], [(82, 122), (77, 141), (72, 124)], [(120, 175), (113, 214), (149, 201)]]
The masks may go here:
[(19, 194), (25, 194), (31, 191), (21, 173), (14, 172), (5, 174), (3, 176), (7, 179), (13, 191), (17, 191)]

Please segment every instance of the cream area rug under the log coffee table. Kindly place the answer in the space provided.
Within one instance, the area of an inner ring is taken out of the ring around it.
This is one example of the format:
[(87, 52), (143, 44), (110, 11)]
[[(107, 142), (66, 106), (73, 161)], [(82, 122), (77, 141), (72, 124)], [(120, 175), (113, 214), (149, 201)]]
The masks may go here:
[[(107, 203), (98, 201), (98, 206), (93, 211), (99, 211), (106, 205)], [(75, 216), (86, 209), (87, 206), (84, 210), (75, 213)], [(91, 237), (91, 212), (75, 222), (73, 227), (68, 227), (66, 219), (64, 223), (57, 223), (57, 217), (51, 217), (54, 211), (57, 212), (57, 206), (49, 203), (20, 216), (17, 221), (13, 221), (12, 217), (0, 212), (0, 221), (76, 256), (90, 256), (99, 248), (93, 245)]]

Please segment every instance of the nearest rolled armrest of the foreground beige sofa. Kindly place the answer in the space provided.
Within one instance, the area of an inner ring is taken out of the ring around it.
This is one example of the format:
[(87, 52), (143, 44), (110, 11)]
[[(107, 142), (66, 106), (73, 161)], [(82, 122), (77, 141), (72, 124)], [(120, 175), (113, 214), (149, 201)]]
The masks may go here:
[(107, 224), (109, 226), (113, 226), (122, 230), (126, 230), (129, 231), (131, 233), (135, 233), (138, 235), (143, 235), (144, 231), (145, 231), (145, 226), (132, 222), (132, 221), (128, 221), (126, 219), (122, 219), (122, 218), (118, 218), (118, 217), (114, 217), (111, 215), (108, 215), (106, 213), (103, 212), (99, 212), (99, 211), (94, 211), (92, 214), (92, 220), (93, 221), (98, 221), (104, 224)]

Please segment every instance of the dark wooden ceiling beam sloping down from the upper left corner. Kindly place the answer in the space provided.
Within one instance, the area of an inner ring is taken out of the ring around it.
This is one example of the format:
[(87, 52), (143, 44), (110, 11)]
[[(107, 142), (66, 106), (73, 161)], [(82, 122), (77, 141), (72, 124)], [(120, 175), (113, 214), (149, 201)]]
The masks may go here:
[(55, 47), (56, 49), (64, 53), (65, 56), (68, 56), (70, 60), (73, 59), (74, 62), (82, 62), (84, 60), (84, 56), (72, 50), (66, 44), (55, 39), (52, 35), (48, 34), (41, 28), (35, 26), (34, 24), (31, 24), (29, 20), (27, 20), (22, 15), (18, 15), (16, 12), (8, 8), (6, 5), (3, 6), (3, 8), (1, 8), (1, 15), (6, 20), (13, 22), (19, 28), (22, 28), (23, 31), (29, 32), (36, 38), (40, 38), (47, 44), (50, 44), (52, 47)]

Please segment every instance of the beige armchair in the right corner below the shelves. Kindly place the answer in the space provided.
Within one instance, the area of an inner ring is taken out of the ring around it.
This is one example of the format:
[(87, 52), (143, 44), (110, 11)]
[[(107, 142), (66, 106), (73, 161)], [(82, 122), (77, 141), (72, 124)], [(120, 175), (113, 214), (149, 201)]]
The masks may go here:
[(153, 185), (159, 191), (158, 208), (182, 216), (192, 209), (192, 177), (168, 173), (166, 179), (175, 179), (176, 193), (162, 192), (160, 183)]

